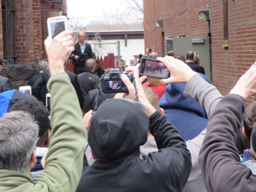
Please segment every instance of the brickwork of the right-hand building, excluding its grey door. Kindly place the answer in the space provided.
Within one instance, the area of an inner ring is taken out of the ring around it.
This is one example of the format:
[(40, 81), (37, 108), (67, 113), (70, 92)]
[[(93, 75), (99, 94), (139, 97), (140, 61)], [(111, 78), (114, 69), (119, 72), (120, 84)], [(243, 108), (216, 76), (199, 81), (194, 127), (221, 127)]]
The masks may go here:
[[(163, 5), (161, 5), (161, 2)], [(224, 40), (223, 1), (144, 1), (145, 48), (164, 49), (154, 27), (159, 16), (163, 18), (163, 32), (166, 37), (207, 36), (208, 23), (199, 19), (199, 11), (210, 8), (212, 32), (212, 82), (223, 95), (229, 93), (237, 80), (256, 60), (256, 2), (228, 1), (229, 47), (222, 47)], [(154, 7), (155, 6), (155, 7)], [(164, 52), (162, 51), (164, 54)], [(162, 55), (163, 56), (163, 55)], [(247, 103), (253, 98), (247, 100)]]

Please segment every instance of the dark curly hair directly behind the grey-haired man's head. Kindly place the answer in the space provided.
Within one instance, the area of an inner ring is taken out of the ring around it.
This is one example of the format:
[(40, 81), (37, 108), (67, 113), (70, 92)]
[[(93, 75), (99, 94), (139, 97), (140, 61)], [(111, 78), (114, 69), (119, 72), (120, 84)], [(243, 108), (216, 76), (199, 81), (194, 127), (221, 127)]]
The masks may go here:
[(42, 102), (31, 98), (20, 99), (13, 106), (11, 106), (10, 111), (26, 111), (33, 115), (35, 121), (38, 123), (39, 126), (39, 137), (43, 136), (44, 133), (48, 132), (48, 111), (46, 110), (46, 107), (43, 105)]

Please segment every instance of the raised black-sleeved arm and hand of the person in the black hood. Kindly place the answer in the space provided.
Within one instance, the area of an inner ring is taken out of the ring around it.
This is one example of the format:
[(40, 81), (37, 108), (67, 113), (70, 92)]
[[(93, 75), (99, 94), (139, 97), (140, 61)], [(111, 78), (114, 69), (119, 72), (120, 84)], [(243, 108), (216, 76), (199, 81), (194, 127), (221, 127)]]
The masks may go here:
[[(158, 152), (150, 153), (144, 157), (145, 161), (155, 162), (148, 163), (152, 172), (162, 170), (159, 181), (163, 186), (172, 186), (174, 191), (181, 191), (187, 182), (191, 170), (191, 156), (186, 148), (185, 141), (180, 136), (176, 128), (168, 122), (166, 115), (161, 115), (159, 110), (156, 111), (147, 100), (144, 90), (139, 81), (139, 72), (136, 68), (127, 68), (126, 72), (133, 72), (135, 84), (137, 86), (137, 94), (139, 102), (146, 107), (146, 114), (150, 119), (150, 132), (155, 137), (156, 144), (160, 149)], [(130, 80), (122, 74), (122, 81), (126, 84), (129, 95), (136, 99), (136, 91)], [(172, 177), (171, 180), (166, 180), (167, 177)], [(166, 191), (170, 189), (166, 188)]]

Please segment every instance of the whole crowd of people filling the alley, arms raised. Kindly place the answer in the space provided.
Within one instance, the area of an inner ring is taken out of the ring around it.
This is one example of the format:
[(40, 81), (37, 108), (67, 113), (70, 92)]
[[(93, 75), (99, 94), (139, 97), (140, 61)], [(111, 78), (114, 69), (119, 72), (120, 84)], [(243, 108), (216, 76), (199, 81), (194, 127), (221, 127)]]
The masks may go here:
[[(148, 49), (171, 76), (147, 80), (120, 60), (114, 71), (128, 92), (104, 93), (100, 77), (113, 69), (102, 69), (83, 41), (71, 31), (48, 37), (48, 62), (28, 82), (34, 96), (3, 102), (12, 87), (0, 93), (0, 191), (256, 190), (256, 104), (245, 108), (256, 63), (223, 97), (196, 53)], [(68, 59), (77, 60), (76, 74)]]

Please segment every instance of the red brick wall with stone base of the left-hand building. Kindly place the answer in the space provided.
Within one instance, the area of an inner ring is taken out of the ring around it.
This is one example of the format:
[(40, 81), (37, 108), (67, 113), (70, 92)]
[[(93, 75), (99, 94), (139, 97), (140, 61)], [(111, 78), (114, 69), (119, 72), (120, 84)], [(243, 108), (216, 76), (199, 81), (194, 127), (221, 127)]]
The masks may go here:
[[(1, 5), (1, 1), (0, 1)], [(1, 9), (2, 6), (0, 6)], [(67, 0), (63, 1), (63, 12), (67, 12)], [(2, 76), (10, 78), (13, 87), (26, 85), (36, 74), (36, 63), (47, 59), (43, 41), (47, 37), (47, 18), (59, 12), (41, 10), (40, 0), (15, 1), (16, 56), (18, 64), (4, 65)], [(0, 57), (3, 57), (2, 11), (0, 11)]]

